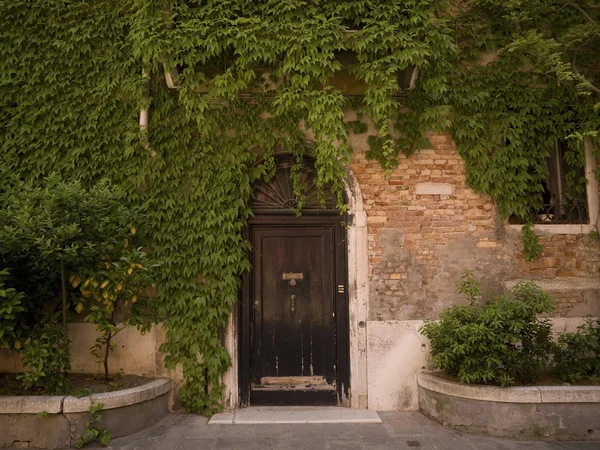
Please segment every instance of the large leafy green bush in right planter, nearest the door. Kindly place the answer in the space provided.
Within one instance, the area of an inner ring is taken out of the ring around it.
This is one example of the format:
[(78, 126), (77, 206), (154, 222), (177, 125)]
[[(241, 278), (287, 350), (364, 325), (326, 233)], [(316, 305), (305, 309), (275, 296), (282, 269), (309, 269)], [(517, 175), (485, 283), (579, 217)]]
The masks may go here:
[[(480, 292), (472, 279), (469, 286), (470, 292)], [(536, 315), (553, 309), (553, 300), (538, 286), (521, 283), (483, 305), (472, 301), (448, 309), (421, 333), (431, 341), (435, 366), (463, 383), (532, 383), (552, 352), (550, 325)]]

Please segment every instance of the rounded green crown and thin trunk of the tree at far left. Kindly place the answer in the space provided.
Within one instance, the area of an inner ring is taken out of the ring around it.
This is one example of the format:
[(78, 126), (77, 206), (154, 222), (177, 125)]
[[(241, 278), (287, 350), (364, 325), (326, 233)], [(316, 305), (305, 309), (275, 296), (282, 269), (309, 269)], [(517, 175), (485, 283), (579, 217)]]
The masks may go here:
[(22, 279), (14, 280), (24, 290), (32, 288), (29, 275), (44, 280), (42, 305), (60, 291), (68, 353), (68, 274), (118, 254), (122, 242), (131, 236), (135, 211), (123, 205), (119, 192), (108, 182), (86, 189), (58, 175), (49, 176), (41, 187), (17, 182), (6, 189), (3, 200), (0, 261), (7, 267), (16, 261), (19, 268), (25, 268), (19, 271)]

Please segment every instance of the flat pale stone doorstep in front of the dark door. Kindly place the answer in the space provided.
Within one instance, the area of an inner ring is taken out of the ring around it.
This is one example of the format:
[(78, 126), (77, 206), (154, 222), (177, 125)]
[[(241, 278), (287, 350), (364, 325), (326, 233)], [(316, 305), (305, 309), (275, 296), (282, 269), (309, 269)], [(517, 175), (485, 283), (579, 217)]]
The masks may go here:
[(215, 414), (212, 425), (382, 423), (377, 411), (339, 406), (250, 406)]

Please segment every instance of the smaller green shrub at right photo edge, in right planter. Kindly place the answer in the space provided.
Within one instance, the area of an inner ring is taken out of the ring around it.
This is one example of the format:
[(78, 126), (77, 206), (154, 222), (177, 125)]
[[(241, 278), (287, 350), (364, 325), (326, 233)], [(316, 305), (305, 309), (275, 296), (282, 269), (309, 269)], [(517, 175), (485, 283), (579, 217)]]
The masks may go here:
[(600, 319), (588, 319), (576, 333), (558, 337), (554, 373), (569, 383), (600, 381)]

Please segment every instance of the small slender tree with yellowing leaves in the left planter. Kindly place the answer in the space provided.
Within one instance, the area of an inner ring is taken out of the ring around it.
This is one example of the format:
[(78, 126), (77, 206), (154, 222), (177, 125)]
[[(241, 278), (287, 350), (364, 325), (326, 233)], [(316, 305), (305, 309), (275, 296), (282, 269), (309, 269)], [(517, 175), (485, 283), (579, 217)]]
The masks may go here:
[(101, 336), (90, 350), (103, 363), (106, 379), (113, 338), (127, 326), (145, 333), (156, 321), (155, 302), (148, 295), (154, 287), (153, 267), (146, 254), (134, 248), (117, 261), (103, 262), (98, 270), (82, 272), (81, 278), (71, 277), (73, 287), (79, 286), (81, 292), (76, 311), (82, 312), (91, 301), (85, 321), (96, 324)]

